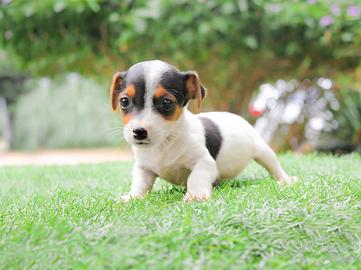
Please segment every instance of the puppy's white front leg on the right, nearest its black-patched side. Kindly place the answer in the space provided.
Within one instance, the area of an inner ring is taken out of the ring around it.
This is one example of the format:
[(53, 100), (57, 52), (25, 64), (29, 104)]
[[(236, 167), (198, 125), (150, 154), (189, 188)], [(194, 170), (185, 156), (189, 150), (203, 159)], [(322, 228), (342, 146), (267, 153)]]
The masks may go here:
[(208, 200), (217, 175), (217, 165), (211, 157), (199, 160), (188, 177), (187, 193), (183, 200), (185, 202)]

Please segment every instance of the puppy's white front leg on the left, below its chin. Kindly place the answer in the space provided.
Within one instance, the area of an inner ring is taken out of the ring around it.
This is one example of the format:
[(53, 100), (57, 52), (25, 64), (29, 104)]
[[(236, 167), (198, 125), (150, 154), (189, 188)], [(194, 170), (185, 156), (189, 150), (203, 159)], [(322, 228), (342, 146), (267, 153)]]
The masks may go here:
[(130, 192), (121, 197), (121, 201), (128, 202), (131, 199), (141, 199), (149, 192), (154, 184), (156, 175), (139, 166), (137, 163), (133, 166), (133, 178)]

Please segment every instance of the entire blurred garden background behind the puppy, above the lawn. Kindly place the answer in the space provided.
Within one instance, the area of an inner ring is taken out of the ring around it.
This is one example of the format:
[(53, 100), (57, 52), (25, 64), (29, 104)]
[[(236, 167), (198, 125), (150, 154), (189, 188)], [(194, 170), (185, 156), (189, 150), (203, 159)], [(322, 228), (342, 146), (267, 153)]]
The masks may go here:
[(149, 59), (278, 151), (361, 152), (355, 0), (0, 0), (0, 152), (124, 146), (110, 80)]

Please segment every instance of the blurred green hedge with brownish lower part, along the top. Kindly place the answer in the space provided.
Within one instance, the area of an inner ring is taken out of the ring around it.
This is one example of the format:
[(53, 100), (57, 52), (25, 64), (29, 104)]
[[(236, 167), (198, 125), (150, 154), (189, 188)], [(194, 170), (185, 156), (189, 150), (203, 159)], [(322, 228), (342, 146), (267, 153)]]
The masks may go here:
[(37, 74), (77, 69), (104, 79), (161, 58), (198, 70), (214, 90), (212, 107), (239, 112), (265, 79), (357, 66), (359, 8), (352, 0), (18, 0), (1, 6), (0, 46)]

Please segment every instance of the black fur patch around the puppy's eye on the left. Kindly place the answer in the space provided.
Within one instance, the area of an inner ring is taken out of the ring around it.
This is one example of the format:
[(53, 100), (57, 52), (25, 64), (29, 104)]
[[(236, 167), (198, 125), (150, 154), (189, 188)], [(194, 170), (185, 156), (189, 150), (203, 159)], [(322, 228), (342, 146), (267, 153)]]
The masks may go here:
[(135, 86), (133, 106), (140, 111), (144, 108), (145, 103), (145, 76), (144, 67), (141, 64), (136, 64), (127, 71), (124, 88), (131, 84)]

